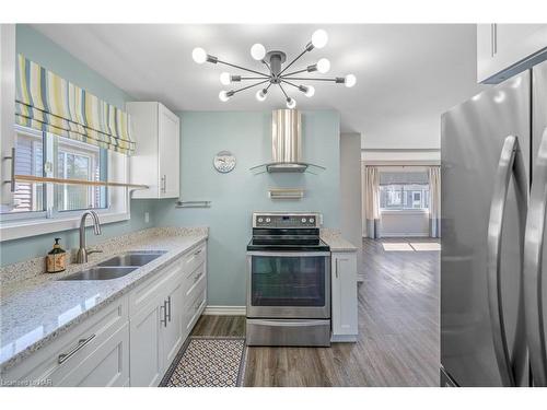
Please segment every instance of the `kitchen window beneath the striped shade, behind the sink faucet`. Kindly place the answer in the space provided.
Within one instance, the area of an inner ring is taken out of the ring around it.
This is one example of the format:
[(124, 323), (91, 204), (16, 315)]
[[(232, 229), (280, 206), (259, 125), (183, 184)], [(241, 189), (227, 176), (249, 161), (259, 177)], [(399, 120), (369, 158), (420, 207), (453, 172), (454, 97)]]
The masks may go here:
[[(90, 181), (127, 179), (126, 155), (94, 144), (15, 126), (14, 145), (18, 175)], [(125, 188), (18, 181), (13, 192), (13, 207), (3, 207), (0, 211), (2, 236), (5, 236), (5, 229), (40, 222), (47, 222), (48, 225), (42, 233), (71, 229), (74, 224), (67, 224), (67, 221), (79, 218), (88, 209), (102, 213), (104, 222), (125, 220), (128, 219), (127, 202)], [(104, 218), (112, 214), (123, 218), (115, 218), (113, 221)], [(65, 223), (56, 229), (54, 222), (61, 220)], [(14, 237), (22, 236), (26, 234)]]

